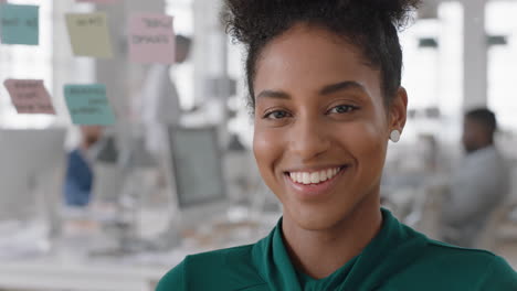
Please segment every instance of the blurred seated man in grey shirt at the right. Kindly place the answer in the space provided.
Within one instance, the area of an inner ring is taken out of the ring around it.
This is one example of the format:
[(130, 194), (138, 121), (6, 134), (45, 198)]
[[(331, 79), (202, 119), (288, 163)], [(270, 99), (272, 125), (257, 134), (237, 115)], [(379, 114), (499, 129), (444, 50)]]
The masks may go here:
[(464, 118), (463, 147), (466, 157), (453, 173), (442, 213), (443, 240), (475, 247), (489, 217), (509, 193), (509, 171), (494, 144), (497, 121), (486, 108)]

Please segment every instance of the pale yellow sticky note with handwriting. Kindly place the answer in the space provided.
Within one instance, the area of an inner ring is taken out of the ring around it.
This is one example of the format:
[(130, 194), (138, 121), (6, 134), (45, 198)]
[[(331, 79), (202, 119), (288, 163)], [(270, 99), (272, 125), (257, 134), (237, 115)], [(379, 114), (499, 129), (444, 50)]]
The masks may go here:
[(105, 12), (66, 13), (72, 51), (78, 56), (113, 57)]

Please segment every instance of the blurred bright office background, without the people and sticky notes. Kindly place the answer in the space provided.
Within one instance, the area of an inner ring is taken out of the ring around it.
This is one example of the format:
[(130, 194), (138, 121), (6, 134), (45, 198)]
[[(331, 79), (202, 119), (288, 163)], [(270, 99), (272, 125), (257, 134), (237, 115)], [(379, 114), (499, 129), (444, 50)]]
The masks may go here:
[[(44, 79), (56, 115), (18, 115), (0, 88), (0, 290), (154, 290), (187, 254), (267, 234), (281, 206), (255, 169), (242, 47), (220, 24), (220, 1), (9, 2), (40, 6), (40, 45), (0, 45), (0, 79)], [(93, 11), (108, 15), (113, 58), (72, 53), (64, 13)], [(166, 129), (163, 155), (146, 148), (138, 114), (152, 66), (127, 57), (126, 23), (135, 12), (172, 15), (175, 32), (192, 40), (187, 61), (167, 71), (182, 117)], [(424, 0), (401, 33), (409, 120), (401, 142), (390, 144), (382, 187), (386, 207), (439, 238), (447, 177), (464, 157), (463, 115), (490, 108), (511, 187), (477, 245), (514, 268), (516, 14), (513, 0)], [(65, 157), (82, 137), (63, 85), (89, 83), (106, 85), (117, 122), (104, 128), (92, 150), (88, 205), (70, 207), (62, 194)]]

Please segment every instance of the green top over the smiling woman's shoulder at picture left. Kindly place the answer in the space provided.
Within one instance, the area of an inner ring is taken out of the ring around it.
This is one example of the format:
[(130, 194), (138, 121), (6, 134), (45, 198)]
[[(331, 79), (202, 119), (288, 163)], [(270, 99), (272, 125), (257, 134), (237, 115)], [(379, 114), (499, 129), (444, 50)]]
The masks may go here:
[(241, 290), (265, 284), (253, 265), (253, 246), (187, 256), (163, 276), (156, 290)]

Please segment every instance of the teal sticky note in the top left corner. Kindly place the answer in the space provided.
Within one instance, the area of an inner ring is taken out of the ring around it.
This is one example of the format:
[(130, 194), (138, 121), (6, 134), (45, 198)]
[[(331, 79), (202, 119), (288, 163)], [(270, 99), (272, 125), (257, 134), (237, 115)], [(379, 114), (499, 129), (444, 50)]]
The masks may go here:
[(36, 6), (0, 4), (0, 36), (4, 44), (38, 45), (40, 8)]

